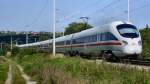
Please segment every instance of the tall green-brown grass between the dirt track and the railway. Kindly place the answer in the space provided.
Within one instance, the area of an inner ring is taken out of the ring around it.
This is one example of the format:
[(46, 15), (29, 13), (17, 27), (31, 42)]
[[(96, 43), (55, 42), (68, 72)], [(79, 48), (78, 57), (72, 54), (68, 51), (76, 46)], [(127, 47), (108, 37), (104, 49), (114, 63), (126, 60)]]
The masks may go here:
[[(81, 58), (49, 59), (43, 54), (16, 59), (39, 84), (150, 84), (150, 72), (87, 62)], [(66, 80), (66, 81), (65, 81)]]

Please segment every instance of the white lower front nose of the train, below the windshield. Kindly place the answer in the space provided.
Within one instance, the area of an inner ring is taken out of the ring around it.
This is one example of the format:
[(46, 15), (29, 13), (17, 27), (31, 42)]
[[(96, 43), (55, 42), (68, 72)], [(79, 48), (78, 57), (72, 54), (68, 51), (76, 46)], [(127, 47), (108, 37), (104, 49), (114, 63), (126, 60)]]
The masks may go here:
[(141, 54), (142, 53), (142, 46), (140, 42), (128, 42), (127, 45), (124, 46), (123, 49), (126, 55), (134, 55), (134, 54)]

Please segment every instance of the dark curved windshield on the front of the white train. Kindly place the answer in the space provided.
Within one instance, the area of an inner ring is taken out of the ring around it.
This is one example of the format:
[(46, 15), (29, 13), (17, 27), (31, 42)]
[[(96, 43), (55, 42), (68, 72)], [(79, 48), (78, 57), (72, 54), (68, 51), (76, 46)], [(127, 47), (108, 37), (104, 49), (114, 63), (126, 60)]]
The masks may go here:
[(117, 29), (121, 36), (126, 38), (137, 38), (139, 37), (139, 32), (134, 25), (122, 24), (117, 26)]

